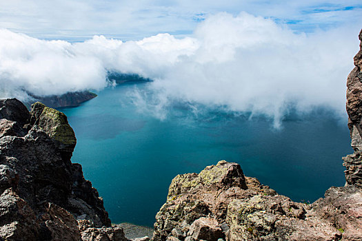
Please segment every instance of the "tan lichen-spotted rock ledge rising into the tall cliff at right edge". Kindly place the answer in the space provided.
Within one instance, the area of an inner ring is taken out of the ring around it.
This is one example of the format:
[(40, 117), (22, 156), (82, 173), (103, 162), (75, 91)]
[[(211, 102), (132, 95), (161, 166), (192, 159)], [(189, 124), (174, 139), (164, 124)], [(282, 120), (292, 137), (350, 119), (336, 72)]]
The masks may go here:
[(362, 30), (359, 39), (347, 83), (354, 154), (343, 158), (345, 187), (312, 204), (293, 202), (223, 160), (172, 180), (152, 240), (362, 240)]

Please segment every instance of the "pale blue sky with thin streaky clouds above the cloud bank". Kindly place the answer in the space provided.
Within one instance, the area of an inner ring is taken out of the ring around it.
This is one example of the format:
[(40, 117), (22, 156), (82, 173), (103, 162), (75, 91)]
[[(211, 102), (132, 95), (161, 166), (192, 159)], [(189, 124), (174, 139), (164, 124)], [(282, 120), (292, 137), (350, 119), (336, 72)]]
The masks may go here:
[(185, 36), (210, 14), (244, 11), (286, 23), (297, 32), (362, 23), (361, 1), (354, 0), (1, 0), (0, 28), (41, 39), (81, 41), (103, 34), (136, 40), (165, 32)]

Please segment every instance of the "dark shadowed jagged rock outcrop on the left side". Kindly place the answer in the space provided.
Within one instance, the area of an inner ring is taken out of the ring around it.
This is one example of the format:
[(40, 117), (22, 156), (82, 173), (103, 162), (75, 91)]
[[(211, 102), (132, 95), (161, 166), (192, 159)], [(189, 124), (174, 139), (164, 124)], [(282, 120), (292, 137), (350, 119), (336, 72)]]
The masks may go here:
[(81, 165), (66, 116), (0, 101), (0, 240), (127, 240)]

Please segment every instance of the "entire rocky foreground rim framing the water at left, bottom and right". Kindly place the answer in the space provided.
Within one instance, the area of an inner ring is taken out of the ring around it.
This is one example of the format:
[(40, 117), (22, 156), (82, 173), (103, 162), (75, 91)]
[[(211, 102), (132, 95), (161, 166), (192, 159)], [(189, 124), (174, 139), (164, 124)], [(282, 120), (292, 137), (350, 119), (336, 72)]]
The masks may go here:
[[(362, 240), (362, 30), (359, 39), (347, 82), (354, 154), (343, 158), (344, 187), (312, 204), (293, 202), (221, 160), (172, 180), (152, 240)], [(17, 99), (0, 100), (0, 240), (150, 240), (137, 238), (149, 229), (111, 224), (70, 160), (76, 143), (56, 109), (34, 103), (29, 112)]]

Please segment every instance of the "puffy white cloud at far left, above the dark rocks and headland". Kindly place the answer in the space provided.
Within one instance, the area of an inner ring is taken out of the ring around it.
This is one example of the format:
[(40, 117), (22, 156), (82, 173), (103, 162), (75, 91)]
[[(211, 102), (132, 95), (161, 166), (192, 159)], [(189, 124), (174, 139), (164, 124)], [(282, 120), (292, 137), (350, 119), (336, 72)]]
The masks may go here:
[(44, 95), (101, 89), (106, 85), (105, 74), (97, 57), (79, 52), (66, 41), (43, 41), (0, 30), (1, 97), (15, 92), (19, 96), (22, 90)]

